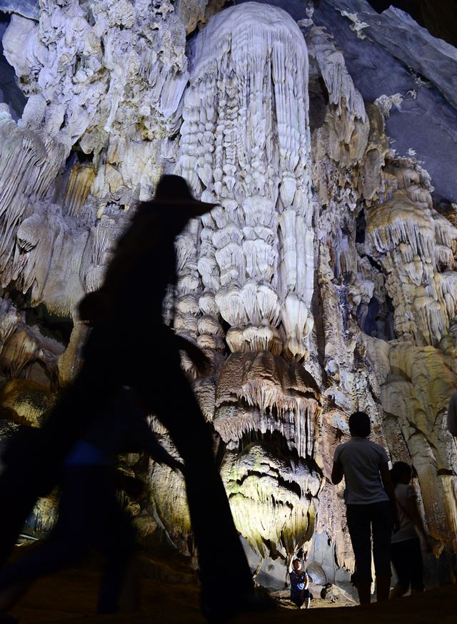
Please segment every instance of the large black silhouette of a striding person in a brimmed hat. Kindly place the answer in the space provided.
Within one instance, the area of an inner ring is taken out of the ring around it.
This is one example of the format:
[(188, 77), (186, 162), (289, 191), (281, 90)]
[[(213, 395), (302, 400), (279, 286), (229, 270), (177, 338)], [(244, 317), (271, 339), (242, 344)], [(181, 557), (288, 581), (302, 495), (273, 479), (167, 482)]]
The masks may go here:
[[(102, 287), (81, 302), (81, 319), (93, 327), (84, 348), (84, 365), (39, 432), (39, 456), (29, 445), (26, 464), (35, 465), (34, 479), (27, 484), (20, 513), (24, 515), (24, 508), (30, 511), (38, 493), (54, 484), (56, 466), (107, 399), (122, 385), (132, 387), (169, 430), (184, 460), (204, 613), (209, 620), (219, 621), (231, 610), (255, 602), (251, 573), (216, 469), (211, 433), (181, 371), (179, 349), (186, 350), (196, 367), (207, 359), (194, 344), (176, 337), (162, 319), (166, 289), (176, 284), (176, 236), (191, 218), (214, 205), (194, 200), (185, 180), (176, 175), (161, 178), (154, 200), (139, 205), (119, 240)], [(19, 461), (12, 464), (19, 469)], [(24, 468), (21, 471), (25, 483)], [(4, 508), (6, 513), (8, 506)], [(224, 583), (214, 558), (216, 546), (224, 548)]]

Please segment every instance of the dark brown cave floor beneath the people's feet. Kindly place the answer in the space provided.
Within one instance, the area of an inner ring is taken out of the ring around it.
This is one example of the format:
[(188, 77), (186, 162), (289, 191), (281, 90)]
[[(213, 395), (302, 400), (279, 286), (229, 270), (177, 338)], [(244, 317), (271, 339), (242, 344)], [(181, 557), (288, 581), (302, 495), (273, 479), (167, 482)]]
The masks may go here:
[[(141, 610), (138, 613), (94, 615), (99, 585), (99, 562), (92, 557), (84, 565), (37, 581), (12, 612), (21, 624), (29, 623), (201, 623), (199, 587), (194, 573), (184, 566), (171, 568), (163, 561), (142, 558)], [(221, 566), (223, 572), (224, 565)], [(230, 597), (227, 597), (229, 603)], [(287, 606), (287, 601), (283, 600)], [(332, 608), (328, 608), (332, 607)], [(308, 620), (316, 624), (431, 624), (456, 623), (457, 586), (431, 590), (389, 603), (340, 607), (313, 600), (310, 610), (283, 608), (267, 613), (239, 615), (233, 624), (268, 624)]]

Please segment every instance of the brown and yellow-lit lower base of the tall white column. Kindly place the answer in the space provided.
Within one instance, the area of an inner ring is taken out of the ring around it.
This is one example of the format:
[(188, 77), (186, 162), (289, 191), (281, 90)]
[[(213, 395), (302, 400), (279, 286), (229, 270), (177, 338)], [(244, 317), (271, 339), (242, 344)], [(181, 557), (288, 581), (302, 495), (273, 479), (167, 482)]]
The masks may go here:
[(233, 354), (221, 370), (221, 474), (236, 525), (261, 556), (286, 558), (313, 533), (323, 486), (314, 449), (319, 394), (302, 367), (271, 352)]

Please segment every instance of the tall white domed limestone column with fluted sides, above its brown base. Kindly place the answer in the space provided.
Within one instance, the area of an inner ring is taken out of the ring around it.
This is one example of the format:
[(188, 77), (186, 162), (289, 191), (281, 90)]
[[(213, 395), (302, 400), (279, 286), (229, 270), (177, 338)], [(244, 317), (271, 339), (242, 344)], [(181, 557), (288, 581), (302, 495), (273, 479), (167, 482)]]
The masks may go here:
[(231, 325), (233, 352), (302, 359), (314, 267), (306, 44), (285, 11), (248, 2), (214, 16), (191, 54), (176, 173), (221, 202), (200, 235), (202, 295)]

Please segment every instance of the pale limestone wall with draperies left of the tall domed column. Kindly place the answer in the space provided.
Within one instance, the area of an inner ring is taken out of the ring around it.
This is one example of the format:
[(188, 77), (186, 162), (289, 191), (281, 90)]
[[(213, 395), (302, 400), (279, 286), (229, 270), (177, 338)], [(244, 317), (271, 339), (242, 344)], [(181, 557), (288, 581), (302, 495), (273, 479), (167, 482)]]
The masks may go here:
[[(71, 316), (99, 286), (124, 227), (117, 206), (149, 198), (169, 155), (184, 43), (165, 4), (43, 0), (39, 22), (11, 16), (5, 56), (28, 100), (17, 126), (1, 105), (4, 287), (16, 281), (33, 305)], [(62, 197), (57, 176), (74, 146), (92, 160), (74, 163)]]

